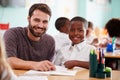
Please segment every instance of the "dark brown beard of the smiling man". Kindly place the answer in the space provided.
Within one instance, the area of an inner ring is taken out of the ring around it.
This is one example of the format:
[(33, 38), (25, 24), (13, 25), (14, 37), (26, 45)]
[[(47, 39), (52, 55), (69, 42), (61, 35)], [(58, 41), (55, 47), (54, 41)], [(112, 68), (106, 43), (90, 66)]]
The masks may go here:
[[(35, 29), (41, 29), (41, 32), (35, 32), (34, 31)], [(33, 36), (35, 36), (35, 37), (41, 37), (44, 33), (46, 33), (46, 28), (31, 26), (30, 24), (29, 24), (29, 30), (33, 34)]]

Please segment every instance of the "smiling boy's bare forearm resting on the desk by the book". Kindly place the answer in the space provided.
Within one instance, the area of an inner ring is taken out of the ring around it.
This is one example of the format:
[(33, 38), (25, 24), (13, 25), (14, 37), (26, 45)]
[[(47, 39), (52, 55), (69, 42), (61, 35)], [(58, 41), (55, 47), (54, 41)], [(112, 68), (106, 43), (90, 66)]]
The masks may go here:
[(78, 60), (69, 60), (69, 61), (66, 61), (64, 63), (65, 67), (66, 68), (73, 68), (75, 66), (78, 66), (78, 67), (83, 67), (83, 68), (89, 68), (89, 62), (85, 62), (85, 61), (78, 61)]

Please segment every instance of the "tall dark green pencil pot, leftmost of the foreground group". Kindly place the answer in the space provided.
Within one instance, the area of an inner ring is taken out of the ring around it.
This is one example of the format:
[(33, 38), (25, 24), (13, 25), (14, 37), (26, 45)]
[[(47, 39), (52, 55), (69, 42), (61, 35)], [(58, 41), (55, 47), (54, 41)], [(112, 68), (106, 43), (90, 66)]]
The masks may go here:
[(89, 56), (89, 76), (90, 77), (96, 77), (97, 72), (97, 55), (96, 54), (90, 54)]

